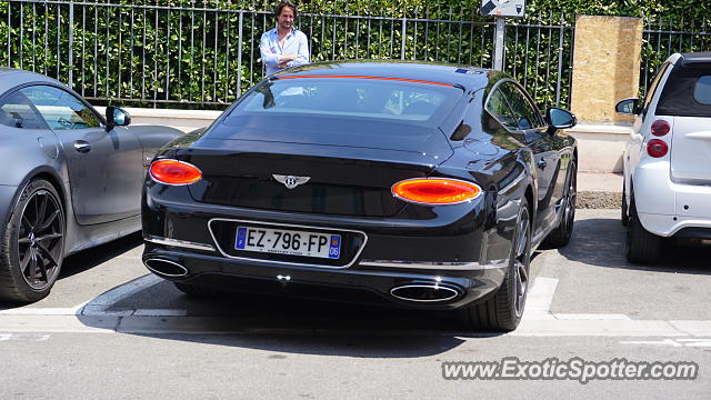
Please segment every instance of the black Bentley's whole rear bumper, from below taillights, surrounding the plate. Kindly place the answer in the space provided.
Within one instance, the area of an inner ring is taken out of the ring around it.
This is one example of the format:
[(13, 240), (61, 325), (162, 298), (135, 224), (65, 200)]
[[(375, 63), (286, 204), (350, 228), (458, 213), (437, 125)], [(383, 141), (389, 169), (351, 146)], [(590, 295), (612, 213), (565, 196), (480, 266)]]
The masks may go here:
[[(469, 304), (501, 286), (518, 213), (514, 208), (495, 211), (489, 196), (472, 203), (433, 207), (384, 219), (196, 203), (184, 187), (154, 186), (144, 190), (143, 261), (166, 261), (177, 272), (157, 273), (167, 280), (218, 290), (330, 300), (349, 300), (351, 296), (346, 293), (359, 293), (358, 301), (440, 310)], [(211, 231), (210, 221), (214, 220), (352, 230), (364, 233), (367, 242), (352, 260), (338, 268), (234, 257), (229, 243), (233, 243), (236, 231)], [(457, 296), (410, 301), (392, 293), (407, 286), (445, 288)]]

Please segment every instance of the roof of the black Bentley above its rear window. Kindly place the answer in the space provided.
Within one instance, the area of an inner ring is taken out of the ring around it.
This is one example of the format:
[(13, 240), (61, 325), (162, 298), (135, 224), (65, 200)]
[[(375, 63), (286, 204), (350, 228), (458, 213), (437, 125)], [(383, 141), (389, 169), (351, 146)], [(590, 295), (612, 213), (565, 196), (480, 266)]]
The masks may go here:
[(310, 63), (278, 72), (272, 77), (283, 78), (314, 74), (379, 77), (447, 83), (462, 87), (464, 90), (469, 91), (471, 89), (485, 87), (489, 83), (489, 72), (491, 72), (491, 70), (451, 63), (401, 60), (363, 60)]

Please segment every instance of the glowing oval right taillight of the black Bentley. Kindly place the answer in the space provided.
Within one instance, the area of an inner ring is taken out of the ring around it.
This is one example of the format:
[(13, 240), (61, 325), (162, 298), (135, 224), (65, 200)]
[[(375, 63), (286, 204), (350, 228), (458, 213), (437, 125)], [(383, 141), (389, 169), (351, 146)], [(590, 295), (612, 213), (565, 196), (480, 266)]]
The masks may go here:
[(481, 194), (474, 183), (444, 178), (408, 179), (392, 186), (392, 194), (420, 204), (458, 204)]

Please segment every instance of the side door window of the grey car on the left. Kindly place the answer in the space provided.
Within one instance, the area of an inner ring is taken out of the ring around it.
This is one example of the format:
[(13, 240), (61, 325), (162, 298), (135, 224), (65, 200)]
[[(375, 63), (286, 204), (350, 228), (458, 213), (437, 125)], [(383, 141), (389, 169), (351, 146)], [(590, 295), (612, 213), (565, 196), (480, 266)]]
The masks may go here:
[(73, 94), (48, 86), (21, 89), (53, 130), (86, 129), (101, 126), (93, 111)]

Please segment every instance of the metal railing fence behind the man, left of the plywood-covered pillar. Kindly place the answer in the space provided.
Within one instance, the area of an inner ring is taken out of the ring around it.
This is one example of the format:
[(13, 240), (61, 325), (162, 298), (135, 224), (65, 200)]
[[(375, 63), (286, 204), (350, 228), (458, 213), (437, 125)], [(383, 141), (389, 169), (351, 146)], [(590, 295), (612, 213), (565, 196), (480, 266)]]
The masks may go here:
[[(491, 68), (494, 22), (299, 14), (312, 61), (401, 59)], [(540, 20), (540, 16), (539, 16)], [(507, 26), (504, 70), (541, 107), (569, 104), (573, 28)], [(96, 103), (223, 108), (263, 78), (267, 11), (0, 0), (0, 64), (66, 82)], [(2, 40), (4, 38), (4, 40)]]

